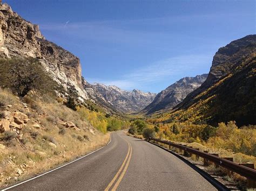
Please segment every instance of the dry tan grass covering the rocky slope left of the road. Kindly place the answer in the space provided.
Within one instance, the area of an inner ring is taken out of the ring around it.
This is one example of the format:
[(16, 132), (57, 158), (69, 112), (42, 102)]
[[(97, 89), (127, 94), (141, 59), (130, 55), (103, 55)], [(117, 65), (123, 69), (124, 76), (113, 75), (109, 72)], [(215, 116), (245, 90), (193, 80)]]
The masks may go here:
[[(0, 89), (0, 103), (11, 112), (19, 110), (29, 114), (28, 125), (22, 129), (23, 140), (19, 142), (12, 132), (0, 134), (0, 187), (23, 180), (32, 175), (48, 171), (57, 165), (85, 155), (109, 142), (110, 134), (103, 134), (93, 128), (80, 115), (57, 101), (40, 102), (26, 98), (29, 108), (25, 109), (19, 99), (9, 91)], [(3, 108), (3, 109), (4, 109)], [(0, 108), (1, 110), (1, 108)], [(63, 128), (57, 119), (71, 121), (79, 130)], [(33, 123), (41, 128), (33, 128)], [(7, 142), (14, 144), (6, 145)], [(55, 145), (53, 145), (53, 144)]]

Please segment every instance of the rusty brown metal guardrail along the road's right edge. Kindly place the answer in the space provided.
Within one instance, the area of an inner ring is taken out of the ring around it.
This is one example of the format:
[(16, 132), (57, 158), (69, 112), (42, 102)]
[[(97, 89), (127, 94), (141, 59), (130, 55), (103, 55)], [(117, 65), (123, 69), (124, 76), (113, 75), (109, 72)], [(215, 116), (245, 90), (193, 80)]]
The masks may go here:
[(224, 168), (227, 168), (232, 172), (238, 173), (241, 176), (245, 176), (246, 178), (248, 178), (250, 180), (256, 181), (256, 170), (253, 169), (253, 168), (249, 168), (249, 167), (246, 167), (246, 166), (239, 165), (239, 164), (237, 164), (235, 162), (232, 162), (230, 160), (223, 159), (223, 158), (220, 158), (220, 157), (217, 157), (215, 155), (208, 154), (208, 153), (205, 153), (205, 152), (201, 152), (201, 151), (198, 151), (198, 150), (196, 150), (194, 148), (191, 148), (191, 147), (187, 147), (187, 146), (184, 146), (184, 145), (179, 145), (179, 144), (172, 143), (172, 142), (167, 142), (166, 140), (160, 140), (160, 139), (156, 139), (156, 138), (150, 138), (149, 141), (150, 140), (154, 140), (154, 141), (159, 142), (159, 143), (163, 143), (163, 144), (166, 144), (166, 145), (169, 145), (169, 146), (180, 148), (181, 150), (184, 150), (188, 153), (198, 155), (201, 158), (204, 158), (208, 161), (214, 162), (214, 164), (222, 166)]

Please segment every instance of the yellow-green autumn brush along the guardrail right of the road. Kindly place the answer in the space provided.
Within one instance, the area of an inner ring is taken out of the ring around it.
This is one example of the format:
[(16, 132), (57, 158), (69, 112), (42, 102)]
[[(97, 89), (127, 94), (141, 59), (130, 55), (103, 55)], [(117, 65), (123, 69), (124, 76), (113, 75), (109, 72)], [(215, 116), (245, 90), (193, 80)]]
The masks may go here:
[[(143, 131), (138, 131), (141, 127), (143, 127)], [(233, 158), (233, 161), (237, 164), (253, 163), (254, 166), (256, 165), (255, 125), (241, 126), (239, 128), (234, 121), (219, 123), (218, 126), (204, 123), (174, 122), (166, 119), (166, 116), (161, 114), (158, 117), (147, 117), (145, 121), (140, 119), (139, 122), (132, 123), (129, 133), (133, 137), (140, 139), (144, 137), (145, 140), (149, 140), (150, 137), (154, 137), (177, 144), (192, 146), (202, 152), (218, 153), (221, 158)], [(169, 148), (167, 145), (160, 145)], [(174, 152), (180, 152), (174, 147), (171, 149)], [(190, 160), (203, 164), (203, 159), (200, 158), (198, 161), (194, 154), (191, 155)], [(206, 167), (206, 172), (222, 176), (223, 180), (241, 189), (246, 189), (248, 186), (246, 178), (237, 173), (231, 174), (223, 167), (216, 167), (212, 164)]]

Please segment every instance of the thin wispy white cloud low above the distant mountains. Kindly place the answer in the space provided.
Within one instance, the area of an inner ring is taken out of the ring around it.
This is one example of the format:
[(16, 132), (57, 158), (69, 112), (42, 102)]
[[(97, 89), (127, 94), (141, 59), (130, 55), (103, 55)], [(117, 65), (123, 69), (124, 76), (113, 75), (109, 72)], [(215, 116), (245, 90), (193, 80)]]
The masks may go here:
[(146, 68), (139, 68), (120, 77), (117, 80), (87, 79), (90, 83), (104, 83), (108, 86), (118, 86), (131, 90), (150, 87), (152, 82), (170, 79), (170, 84), (179, 80), (178, 76), (196, 73), (198, 68), (209, 68), (212, 55), (181, 55), (152, 63)]

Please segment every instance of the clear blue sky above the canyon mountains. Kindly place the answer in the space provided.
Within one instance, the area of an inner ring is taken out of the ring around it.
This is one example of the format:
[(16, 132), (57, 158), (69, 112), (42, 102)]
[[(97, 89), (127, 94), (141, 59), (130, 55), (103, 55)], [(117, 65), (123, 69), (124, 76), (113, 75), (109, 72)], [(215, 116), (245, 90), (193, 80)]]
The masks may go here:
[(158, 93), (255, 34), (255, 1), (3, 0), (80, 58), (90, 83)]

